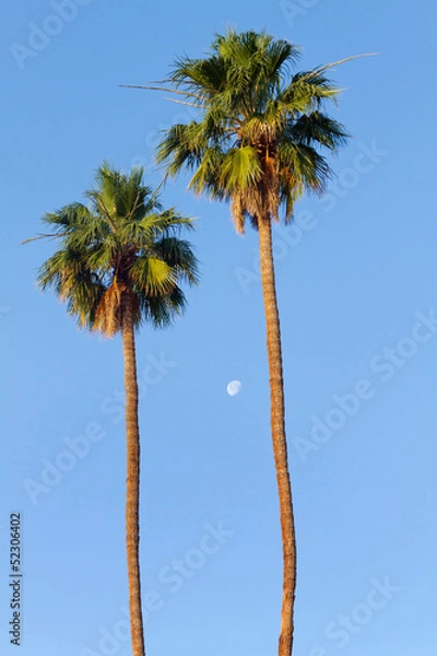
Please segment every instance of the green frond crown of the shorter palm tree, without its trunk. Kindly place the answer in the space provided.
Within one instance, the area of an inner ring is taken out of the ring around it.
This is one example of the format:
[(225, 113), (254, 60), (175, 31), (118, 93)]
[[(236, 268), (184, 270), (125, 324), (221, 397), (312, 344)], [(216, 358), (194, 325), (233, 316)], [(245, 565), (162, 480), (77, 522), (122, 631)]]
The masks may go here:
[(161, 327), (185, 308), (180, 283), (198, 282), (192, 247), (178, 236), (192, 220), (163, 210), (143, 174), (104, 163), (85, 192), (87, 206), (74, 202), (43, 218), (52, 231), (44, 236), (61, 247), (40, 267), (39, 286), (54, 288), (81, 327), (108, 337), (121, 329), (123, 297), (135, 327)]

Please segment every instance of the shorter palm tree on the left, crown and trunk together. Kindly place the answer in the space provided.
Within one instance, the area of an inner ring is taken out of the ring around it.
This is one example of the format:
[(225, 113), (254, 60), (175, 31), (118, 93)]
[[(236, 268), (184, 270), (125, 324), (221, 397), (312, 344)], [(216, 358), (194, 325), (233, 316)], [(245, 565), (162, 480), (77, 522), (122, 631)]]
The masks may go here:
[(163, 210), (143, 184), (143, 168), (130, 175), (103, 164), (88, 207), (74, 202), (44, 216), (46, 237), (60, 249), (42, 266), (38, 284), (54, 288), (79, 325), (107, 337), (121, 332), (125, 359), (127, 495), (126, 541), (133, 656), (144, 656), (139, 559), (140, 433), (134, 332), (142, 323), (167, 326), (186, 300), (181, 281), (197, 283), (197, 260), (179, 238), (192, 221)]

